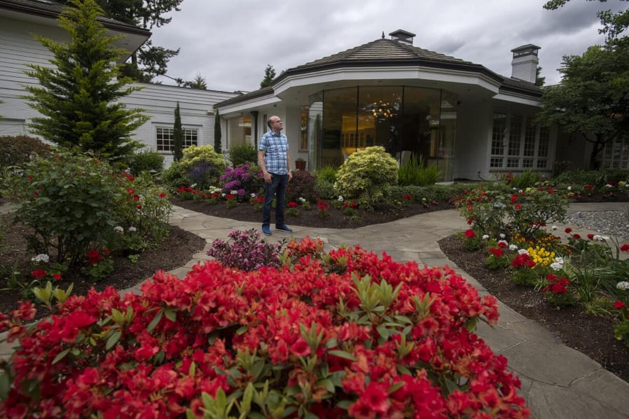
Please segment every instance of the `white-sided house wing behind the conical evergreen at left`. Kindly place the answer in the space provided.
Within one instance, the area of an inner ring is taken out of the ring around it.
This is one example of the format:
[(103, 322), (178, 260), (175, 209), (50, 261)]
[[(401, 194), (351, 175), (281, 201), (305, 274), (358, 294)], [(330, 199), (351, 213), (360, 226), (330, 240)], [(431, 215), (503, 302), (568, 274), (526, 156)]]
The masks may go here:
[[(22, 85), (36, 80), (24, 71), (27, 63), (50, 65), (52, 53), (33, 38), (38, 34), (57, 42), (68, 41), (69, 36), (58, 27), (57, 18), (64, 6), (48, 0), (0, 0), (0, 135), (28, 134), (26, 124), (38, 116), (35, 109), (20, 96), (25, 94)], [(125, 38), (116, 46), (128, 50), (128, 55), (140, 48), (151, 33), (142, 28), (125, 25), (109, 18), (99, 21), (109, 30), (108, 35), (123, 34)], [(142, 140), (148, 148), (164, 154), (167, 164), (172, 161), (172, 127), (174, 109), (179, 101), (186, 145), (214, 143), (213, 105), (233, 98), (237, 94), (222, 91), (203, 91), (160, 84), (138, 83), (141, 91), (123, 98), (129, 108), (142, 108), (150, 121), (135, 131), (134, 138)]]

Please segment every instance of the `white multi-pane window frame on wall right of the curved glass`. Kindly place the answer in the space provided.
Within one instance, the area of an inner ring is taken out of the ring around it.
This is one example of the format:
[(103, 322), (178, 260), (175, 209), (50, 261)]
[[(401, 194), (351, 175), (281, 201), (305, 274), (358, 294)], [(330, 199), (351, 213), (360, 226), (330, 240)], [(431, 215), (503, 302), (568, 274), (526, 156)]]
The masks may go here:
[[(494, 121), (496, 121), (496, 115), (506, 115), (505, 129), (503, 133), (502, 153), (494, 154)], [(519, 137), (519, 150), (518, 154), (510, 154), (509, 143), (511, 142), (511, 121), (513, 117), (520, 118), (520, 133)], [(512, 111), (505, 111), (503, 109), (494, 109), (491, 119), (491, 136), (489, 137), (489, 160), (487, 167), (489, 172), (523, 172), (525, 170), (534, 170), (538, 172), (552, 171), (552, 145), (554, 145), (554, 138), (551, 136), (550, 128), (542, 128), (540, 124), (535, 125), (535, 139), (533, 144), (533, 155), (525, 155), (526, 145), (526, 128), (529, 121), (533, 118), (533, 115), (527, 115), (525, 113), (518, 113)], [(547, 149), (545, 155), (540, 155), (540, 138), (542, 134), (547, 135)], [(529, 143), (530, 145), (530, 143)], [(530, 152), (530, 148), (527, 149)], [(498, 165), (499, 163), (499, 165)], [(543, 164), (542, 167), (538, 167)]]

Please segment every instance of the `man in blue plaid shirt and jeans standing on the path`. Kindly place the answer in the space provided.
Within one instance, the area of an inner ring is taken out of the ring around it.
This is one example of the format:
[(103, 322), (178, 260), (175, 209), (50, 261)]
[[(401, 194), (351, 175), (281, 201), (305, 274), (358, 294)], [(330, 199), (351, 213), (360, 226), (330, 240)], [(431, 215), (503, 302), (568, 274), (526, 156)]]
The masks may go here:
[(286, 186), (292, 179), (288, 154), (288, 138), (282, 134), (284, 123), (278, 116), (267, 120), (270, 131), (260, 137), (258, 165), (264, 174), (264, 206), (262, 207), (262, 233), (270, 236), (271, 203), (276, 196), (276, 230), (292, 233), (284, 224), (284, 197)]

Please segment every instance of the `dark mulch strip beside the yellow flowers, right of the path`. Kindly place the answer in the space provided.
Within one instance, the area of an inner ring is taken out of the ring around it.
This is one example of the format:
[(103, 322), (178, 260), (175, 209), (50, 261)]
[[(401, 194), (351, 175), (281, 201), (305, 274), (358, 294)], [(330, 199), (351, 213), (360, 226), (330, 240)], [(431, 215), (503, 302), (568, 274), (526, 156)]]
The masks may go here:
[(509, 281), (506, 271), (486, 269), (481, 250), (465, 250), (455, 236), (442, 238), (438, 243), (448, 259), (481, 282), (504, 304), (546, 327), (565, 345), (629, 381), (629, 349), (614, 337), (614, 323), (610, 318), (586, 315), (578, 304), (557, 310), (543, 298), (543, 293)]

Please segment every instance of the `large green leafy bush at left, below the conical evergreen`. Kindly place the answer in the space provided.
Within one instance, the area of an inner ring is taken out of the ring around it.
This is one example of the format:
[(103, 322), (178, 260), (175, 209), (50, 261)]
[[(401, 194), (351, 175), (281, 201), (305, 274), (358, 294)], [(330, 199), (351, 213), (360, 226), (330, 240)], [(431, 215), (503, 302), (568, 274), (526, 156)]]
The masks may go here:
[(105, 162), (68, 153), (25, 164), (14, 176), (20, 199), (16, 220), (33, 228), (28, 237), (35, 254), (56, 253), (58, 262), (76, 265), (87, 250), (104, 245), (116, 223), (118, 179)]

